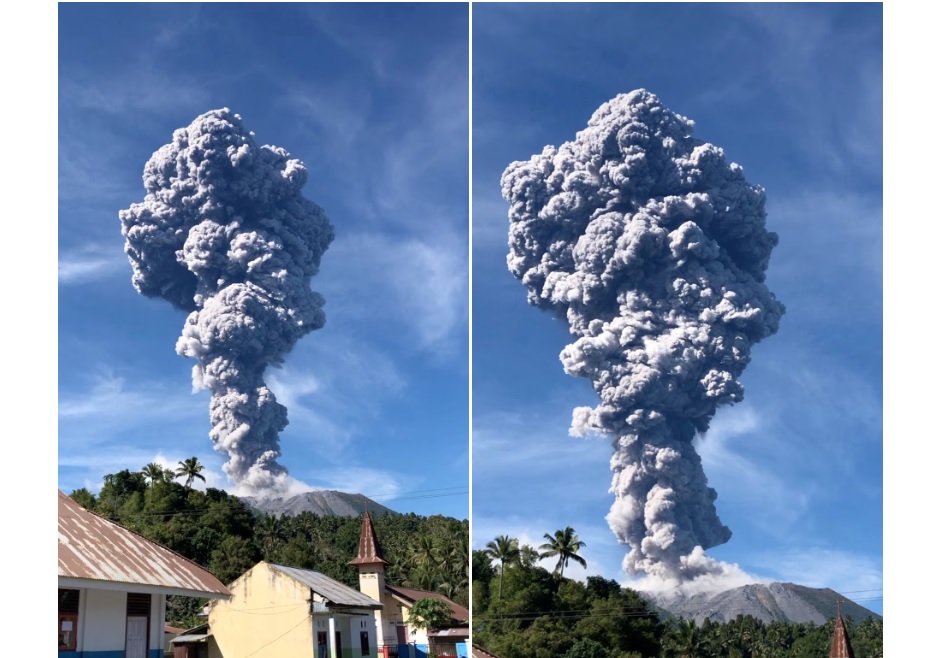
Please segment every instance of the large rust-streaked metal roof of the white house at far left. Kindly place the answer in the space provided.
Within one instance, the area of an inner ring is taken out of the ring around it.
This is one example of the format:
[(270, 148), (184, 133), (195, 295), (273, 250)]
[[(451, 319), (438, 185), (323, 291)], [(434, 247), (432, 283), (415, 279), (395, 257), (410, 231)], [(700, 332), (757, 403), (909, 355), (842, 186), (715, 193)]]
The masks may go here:
[(195, 562), (89, 512), (61, 491), (59, 578), (143, 585), (188, 596), (230, 595)]

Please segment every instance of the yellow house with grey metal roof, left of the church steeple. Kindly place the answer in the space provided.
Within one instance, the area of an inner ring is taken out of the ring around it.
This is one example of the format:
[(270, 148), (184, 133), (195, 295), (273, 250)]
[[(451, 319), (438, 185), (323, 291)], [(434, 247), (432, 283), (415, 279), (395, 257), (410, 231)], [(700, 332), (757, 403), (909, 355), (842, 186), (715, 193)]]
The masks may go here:
[(208, 644), (209, 658), (377, 656), (374, 612), (382, 606), (320, 572), (261, 561), (229, 590), (231, 598), (210, 603), (208, 629), (187, 631), (194, 646)]

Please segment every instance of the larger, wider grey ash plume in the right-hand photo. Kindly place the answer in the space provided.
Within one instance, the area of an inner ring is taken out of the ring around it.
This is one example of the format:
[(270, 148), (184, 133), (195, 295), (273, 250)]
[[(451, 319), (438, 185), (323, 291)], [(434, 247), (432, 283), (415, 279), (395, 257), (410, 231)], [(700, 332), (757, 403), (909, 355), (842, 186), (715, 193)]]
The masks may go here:
[(696, 547), (731, 537), (691, 442), (742, 399), (751, 347), (784, 312), (764, 284), (778, 241), (764, 190), (693, 125), (647, 91), (622, 94), (501, 181), (509, 269), (568, 320), (565, 372), (601, 398), (571, 432), (612, 437), (624, 567), (678, 581), (720, 571)]

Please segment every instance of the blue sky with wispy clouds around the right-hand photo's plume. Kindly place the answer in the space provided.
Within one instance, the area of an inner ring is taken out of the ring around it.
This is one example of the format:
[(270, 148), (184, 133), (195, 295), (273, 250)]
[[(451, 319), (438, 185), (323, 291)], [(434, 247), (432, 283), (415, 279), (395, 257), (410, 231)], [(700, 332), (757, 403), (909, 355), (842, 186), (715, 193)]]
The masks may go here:
[(568, 330), (507, 271), (500, 176), (645, 88), (767, 192), (767, 283), (787, 307), (745, 399), (699, 443), (731, 540), (709, 551), (762, 580), (832, 587), (882, 612), (882, 7), (475, 4), (473, 545), (538, 545), (571, 525), (588, 569), (622, 583), (604, 439), (567, 376)]

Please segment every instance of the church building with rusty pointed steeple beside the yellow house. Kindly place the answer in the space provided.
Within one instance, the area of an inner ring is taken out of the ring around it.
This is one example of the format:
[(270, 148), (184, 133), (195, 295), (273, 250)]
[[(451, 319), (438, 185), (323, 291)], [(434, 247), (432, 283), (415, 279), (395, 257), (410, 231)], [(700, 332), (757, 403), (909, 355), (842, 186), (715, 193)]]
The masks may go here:
[[(467, 608), (438, 592), (388, 585), (385, 581), (385, 565), (388, 562), (382, 558), (368, 511), (363, 514), (359, 548), (350, 564), (359, 570), (360, 591), (382, 604), (375, 612), (376, 638), (386, 658), (409, 655), (424, 658), (429, 649), (442, 657), (467, 656), (467, 638), (470, 636), (470, 613)], [(424, 630), (409, 624), (412, 606), (425, 598), (439, 599), (450, 606), (452, 624), (448, 628), (434, 629), (426, 634)]]

